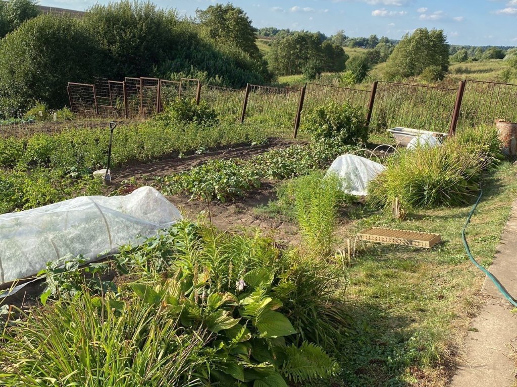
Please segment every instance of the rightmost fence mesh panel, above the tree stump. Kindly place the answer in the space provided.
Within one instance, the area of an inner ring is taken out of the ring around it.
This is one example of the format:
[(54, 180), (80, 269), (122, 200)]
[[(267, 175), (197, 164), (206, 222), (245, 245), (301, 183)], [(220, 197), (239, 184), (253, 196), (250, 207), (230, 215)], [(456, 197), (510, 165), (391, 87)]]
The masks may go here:
[(458, 127), (517, 122), (517, 85), (466, 80)]

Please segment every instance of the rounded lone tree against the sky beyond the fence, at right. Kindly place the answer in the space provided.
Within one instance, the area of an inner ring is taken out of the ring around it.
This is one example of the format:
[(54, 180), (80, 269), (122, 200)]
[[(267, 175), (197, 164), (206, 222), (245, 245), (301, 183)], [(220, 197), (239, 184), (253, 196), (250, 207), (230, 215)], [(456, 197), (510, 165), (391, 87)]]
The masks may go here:
[(397, 44), (386, 65), (386, 77), (417, 76), (430, 67), (440, 68), (439, 79), (449, 69), (449, 46), (444, 31), (417, 28), (412, 35), (406, 34)]

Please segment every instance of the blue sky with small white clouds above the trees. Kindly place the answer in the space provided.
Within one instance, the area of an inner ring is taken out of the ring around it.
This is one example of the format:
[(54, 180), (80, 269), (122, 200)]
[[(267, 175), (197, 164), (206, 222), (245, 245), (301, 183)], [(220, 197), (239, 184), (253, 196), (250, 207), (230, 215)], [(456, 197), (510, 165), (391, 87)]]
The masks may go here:
[[(84, 10), (96, 0), (41, 0), (41, 5)], [(154, 0), (194, 15), (212, 0)], [(226, 0), (219, 1), (226, 3)], [(100, 0), (106, 4), (108, 0)], [(445, 31), (451, 44), (517, 45), (517, 0), (234, 0), (255, 27), (320, 30), (332, 35), (377, 34), (400, 39), (418, 27)]]

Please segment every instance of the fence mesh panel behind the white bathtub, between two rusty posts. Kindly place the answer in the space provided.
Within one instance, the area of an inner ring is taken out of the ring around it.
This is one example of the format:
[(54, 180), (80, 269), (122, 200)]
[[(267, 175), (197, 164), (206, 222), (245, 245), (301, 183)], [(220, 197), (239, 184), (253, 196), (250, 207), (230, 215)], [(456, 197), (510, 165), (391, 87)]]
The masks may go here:
[(448, 132), (457, 93), (445, 87), (378, 82), (370, 127)]

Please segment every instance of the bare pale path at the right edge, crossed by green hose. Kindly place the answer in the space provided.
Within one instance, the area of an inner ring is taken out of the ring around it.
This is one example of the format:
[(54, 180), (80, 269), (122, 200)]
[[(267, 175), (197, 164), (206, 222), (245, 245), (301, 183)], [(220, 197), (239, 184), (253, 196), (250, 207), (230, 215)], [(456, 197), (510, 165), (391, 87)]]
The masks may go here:
[[(491, 273), (517, 297), (517, 200), (497, 247)], [(517, 315), (489, 278), (481, 294), (485, 300), (466, 337), (462, 366), (452, 387), (510, 387), (516, 383)]]

